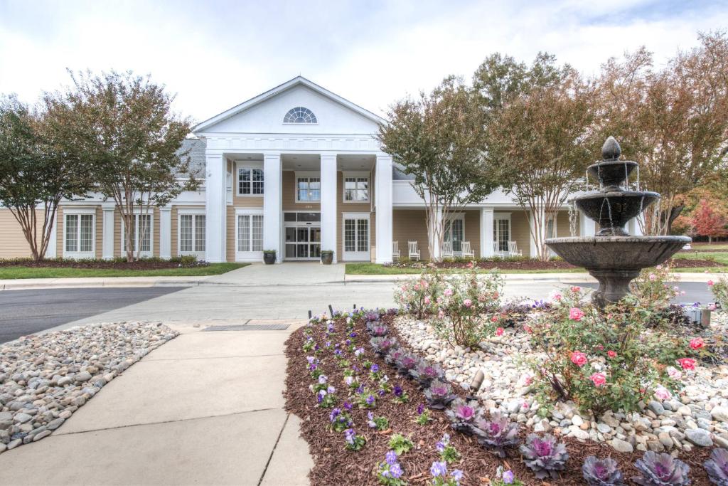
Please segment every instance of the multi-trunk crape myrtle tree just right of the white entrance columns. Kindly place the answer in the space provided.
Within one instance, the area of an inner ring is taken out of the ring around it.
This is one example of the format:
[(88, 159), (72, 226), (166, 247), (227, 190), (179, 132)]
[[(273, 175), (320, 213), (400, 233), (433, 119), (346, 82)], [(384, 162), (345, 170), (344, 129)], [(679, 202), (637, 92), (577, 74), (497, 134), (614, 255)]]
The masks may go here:
[(500, 169), (483, 149), (483, 116), (472, 90), (448, 77), (432, 93), (391, 106), (380, 125), (382, 150), (414, 176), (425, 203), (427, 247), (440, 259), (446, 227), (456, 210), (478, 203), (499, 186)]

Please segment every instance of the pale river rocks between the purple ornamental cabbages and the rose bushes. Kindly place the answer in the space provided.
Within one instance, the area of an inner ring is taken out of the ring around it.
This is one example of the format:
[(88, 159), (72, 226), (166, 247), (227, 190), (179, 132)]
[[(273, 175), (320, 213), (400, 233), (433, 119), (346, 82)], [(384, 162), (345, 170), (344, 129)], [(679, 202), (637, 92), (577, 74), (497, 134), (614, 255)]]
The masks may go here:
[[(606, 412), (579, 415), (573, 402), (558, 403), (547, 418), (539, 418), (539, 404), (526, 385), (529, 369), (523, 359), (531, 355), (529, 335), (506, 329), (500, 337), (481, 342), (480, 349), (452, 348), (440, 340), (427, 321), (397, 318), (397, 331), (421, 356), (440, 364), (446, 377), (463, 388), (482, 369), (478, 393), (483, 407), (507, 413), (512, 420), (533, 428), (582, 441), (606, 442), (620, 452), (653, 450), (689, 452), (694, 447), (728, 447), (728, 365), (697, 366), (684, 372), (684, 388), (666, 401), (644, 404), (641, 413)], [(728, 332), (728, 315), (713, 313), (711, 330)]]

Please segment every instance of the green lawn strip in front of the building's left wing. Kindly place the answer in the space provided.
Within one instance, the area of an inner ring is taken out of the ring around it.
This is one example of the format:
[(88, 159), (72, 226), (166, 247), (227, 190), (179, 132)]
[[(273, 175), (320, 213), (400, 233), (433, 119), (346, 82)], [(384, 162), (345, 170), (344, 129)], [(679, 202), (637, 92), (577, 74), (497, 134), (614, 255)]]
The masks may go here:
[(13, 278), (82, 278), (82, 277), (197, 277), (220, 275), (248, 263), (211, 263), (205, 267), (160, 268), (155, 270), (114, 270), (113, 268), (70, 267), (0, 267), (0, 280)]

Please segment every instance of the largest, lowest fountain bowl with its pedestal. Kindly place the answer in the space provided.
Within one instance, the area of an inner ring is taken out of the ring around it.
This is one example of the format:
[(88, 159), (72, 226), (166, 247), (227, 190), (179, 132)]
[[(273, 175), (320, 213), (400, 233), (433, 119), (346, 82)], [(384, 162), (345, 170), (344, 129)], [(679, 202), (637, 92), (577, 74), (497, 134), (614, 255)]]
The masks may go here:
[(640, 270), (664, 263), (690, 241), (687, 236), (594, 236), (549, 238), (545, 243), (599, 281), (592, 300), (604, 308), (629, 293), (630, 281)]

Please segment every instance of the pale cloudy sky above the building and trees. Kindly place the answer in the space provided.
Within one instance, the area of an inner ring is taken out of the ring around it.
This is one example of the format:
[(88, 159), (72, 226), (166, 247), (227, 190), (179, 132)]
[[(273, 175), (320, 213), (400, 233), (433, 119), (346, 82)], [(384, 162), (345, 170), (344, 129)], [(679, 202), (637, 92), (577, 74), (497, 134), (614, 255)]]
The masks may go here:
[(382, 114), (491, 52), (585, 74), (646, 45), (664, 63), (728, 27), (725, 0), (0, 0), (0, 93), (34, 101), (66, 68), (132, 69), (199, 122), (303, 75)]

